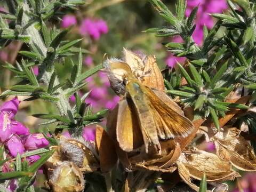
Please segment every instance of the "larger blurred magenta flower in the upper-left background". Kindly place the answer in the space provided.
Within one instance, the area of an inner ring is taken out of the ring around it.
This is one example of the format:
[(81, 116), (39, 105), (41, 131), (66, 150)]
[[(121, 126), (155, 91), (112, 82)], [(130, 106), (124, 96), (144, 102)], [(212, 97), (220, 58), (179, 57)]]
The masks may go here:
[(90, 35), (91, 38), (98, 40), (102, 34), (108, 32), (108, 26), (103, 20), (86, 18), (82, 21), (79, 31), (81, 35)]

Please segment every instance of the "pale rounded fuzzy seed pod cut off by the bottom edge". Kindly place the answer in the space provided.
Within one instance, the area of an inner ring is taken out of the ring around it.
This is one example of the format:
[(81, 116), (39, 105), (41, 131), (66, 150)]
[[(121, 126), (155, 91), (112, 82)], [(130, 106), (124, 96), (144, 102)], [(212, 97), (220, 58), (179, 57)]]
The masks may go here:
[(53, 192), (79, 192), (84, 185), (82, 172), (72, 162), (62, 162), (50, 174), (49, 186)]

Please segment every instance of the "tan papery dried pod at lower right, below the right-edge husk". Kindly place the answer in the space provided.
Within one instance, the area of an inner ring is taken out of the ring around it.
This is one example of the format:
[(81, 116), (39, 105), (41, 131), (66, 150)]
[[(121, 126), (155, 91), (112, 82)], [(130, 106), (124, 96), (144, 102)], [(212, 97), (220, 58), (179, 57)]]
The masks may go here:
[(204, 173), (209, 182), (234, 180), (240, 177), (228, 161), (223, 161), (215, 154), (196, 148), (183, 151), (177, 165), (182, 180), (195, 190), (198, 190), (198, 187), (191, 182), (191, 178), (201, 180)]

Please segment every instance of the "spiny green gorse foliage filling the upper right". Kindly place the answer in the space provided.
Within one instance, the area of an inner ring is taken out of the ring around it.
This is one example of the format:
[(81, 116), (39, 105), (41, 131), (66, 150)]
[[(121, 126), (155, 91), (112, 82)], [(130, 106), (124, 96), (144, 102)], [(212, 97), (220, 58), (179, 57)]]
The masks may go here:
[[(183, 43), (165, 43), (167, 51), (177, 57), (186, 57), (188, 65), (178, 63), (177, 69), (166, 75), (167, 93), (180, 97), (181, 102), (191, 106), (201, 114), (202, 118), (211, 116), (219, 129), (219, 117), (224, 116), (230, 108), (247, 109), (248, 106), (226, 102), (227, 95), (237, 84), (242, 84), (252, 92), (255, 90), (255, 19), (252, 18), (254, 3), (230, 0), (228, 14), (212, 14), (218, 22), (208, 31), (204, 29), (202, 47), (197, 46), (191, 34), (195, 25), (197, 7), (189, 17), (184, 18), (183, 10), (186, 2), (179, 0), (176, 16), (159, 0), (151, 0), (151, 4), (169, 23), (170, 28), (152, 28), (146, 32), (159, 36), (179, 35)], [(182, 15), (182, 16), (181, 16)], [(226, 28), (226, 35), (218, 35), (220, 27)], [(180, 75), (186, 83), (180, 85)], [(179, 81), (177, 81), (179, 79)]]

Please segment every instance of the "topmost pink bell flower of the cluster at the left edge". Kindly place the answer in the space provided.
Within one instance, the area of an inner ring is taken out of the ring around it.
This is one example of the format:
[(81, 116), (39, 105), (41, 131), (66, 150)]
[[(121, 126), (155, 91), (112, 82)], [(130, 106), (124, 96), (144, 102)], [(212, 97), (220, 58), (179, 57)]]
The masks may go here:
[(4, 102), (3, 105), (0, 107), (0, 113), (7, 113), (9, 114), (10, 118), (13, 118), (19, 109), (18, 97), (13, 98), (11, 101)]

